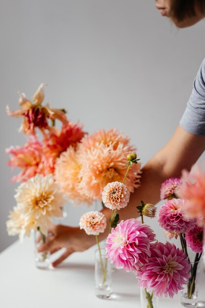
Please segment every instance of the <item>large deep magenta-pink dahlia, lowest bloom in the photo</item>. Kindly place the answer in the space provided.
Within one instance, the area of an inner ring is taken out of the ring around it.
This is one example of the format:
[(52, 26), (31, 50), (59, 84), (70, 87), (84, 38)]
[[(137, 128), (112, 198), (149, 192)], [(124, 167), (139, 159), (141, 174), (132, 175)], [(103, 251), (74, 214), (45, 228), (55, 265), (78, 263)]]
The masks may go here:
[(188, 282), (190, 265), (184, 252), (174, 244), (157, 243), (151, 247), (151, 257), (136, 273), (139, 286), (152, 289), (154, 296), (173, 298)]

